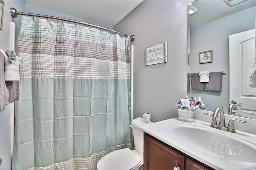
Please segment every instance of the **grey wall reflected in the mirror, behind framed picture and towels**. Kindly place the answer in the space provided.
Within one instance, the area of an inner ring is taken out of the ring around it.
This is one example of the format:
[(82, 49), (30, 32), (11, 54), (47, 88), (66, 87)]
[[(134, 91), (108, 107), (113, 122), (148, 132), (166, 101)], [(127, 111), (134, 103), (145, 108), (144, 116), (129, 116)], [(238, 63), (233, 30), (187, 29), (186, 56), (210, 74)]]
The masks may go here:
[[(221, 92), (191, 90), (193, 97), (202, 97), (209, 111), (221, 105), (225, 113), (228, 110), (229, 35), (254, 29), (255, 15), (256, 6), (190, 30), (190, 73), (226, 71)], [(199, 64), (198, 53), (208, 50), (212, 50), (212, 63)]]

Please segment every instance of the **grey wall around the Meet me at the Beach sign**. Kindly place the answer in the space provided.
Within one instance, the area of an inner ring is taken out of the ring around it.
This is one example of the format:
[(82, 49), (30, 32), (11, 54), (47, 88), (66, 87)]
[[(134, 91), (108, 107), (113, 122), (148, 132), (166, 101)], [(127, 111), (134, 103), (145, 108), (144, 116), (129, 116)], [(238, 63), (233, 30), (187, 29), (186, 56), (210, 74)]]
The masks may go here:
[[(135, 35), (133, 119), (151, 113), (151, 121), (177, 117), (174, 105), (187, 93), (187, 12), (191, 0), (144, 0), (114, 26)], [(168, 42), (168, 62), (144, 66), (145, 48)]]

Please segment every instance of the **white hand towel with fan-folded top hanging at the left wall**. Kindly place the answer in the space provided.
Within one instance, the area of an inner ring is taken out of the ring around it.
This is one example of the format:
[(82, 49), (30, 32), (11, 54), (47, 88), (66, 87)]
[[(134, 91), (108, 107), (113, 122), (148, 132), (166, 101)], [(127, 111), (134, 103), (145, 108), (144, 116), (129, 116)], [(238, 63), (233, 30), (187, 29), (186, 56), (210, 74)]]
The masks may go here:
[(5, 81), (19, 81), (19, 65), (22, 57), (18, 57), (14, 50), (1, 50), (4, 53), (4, 78)]

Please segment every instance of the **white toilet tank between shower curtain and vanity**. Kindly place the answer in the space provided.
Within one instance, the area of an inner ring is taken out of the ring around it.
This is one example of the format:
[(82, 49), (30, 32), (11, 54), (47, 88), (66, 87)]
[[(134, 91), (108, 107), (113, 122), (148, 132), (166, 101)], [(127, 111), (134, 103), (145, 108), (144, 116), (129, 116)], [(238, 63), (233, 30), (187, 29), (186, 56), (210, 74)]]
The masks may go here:
[(140, 152), (140, 154), (143, 153), (143, 130), (140, 129), (141, 126), (149, 125), (153, 122), (146, 123), (143, 121), (142, 117), (138, 117), (134, 120), (132, 120), (132, 133), (134, 138), (134, 148)]

